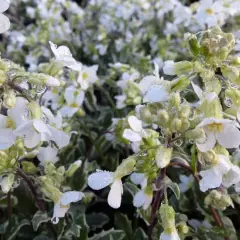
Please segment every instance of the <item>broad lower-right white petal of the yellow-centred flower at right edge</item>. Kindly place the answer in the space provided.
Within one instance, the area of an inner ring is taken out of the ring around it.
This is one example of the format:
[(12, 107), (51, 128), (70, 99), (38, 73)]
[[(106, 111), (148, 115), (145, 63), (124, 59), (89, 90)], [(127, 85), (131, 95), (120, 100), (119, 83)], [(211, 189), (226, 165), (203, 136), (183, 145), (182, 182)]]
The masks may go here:
[(225, 148), (237, 148), (240, 145), (240, 131), (234, 123), (223, 124), (223, 131), (215, 135), (218, 143)]

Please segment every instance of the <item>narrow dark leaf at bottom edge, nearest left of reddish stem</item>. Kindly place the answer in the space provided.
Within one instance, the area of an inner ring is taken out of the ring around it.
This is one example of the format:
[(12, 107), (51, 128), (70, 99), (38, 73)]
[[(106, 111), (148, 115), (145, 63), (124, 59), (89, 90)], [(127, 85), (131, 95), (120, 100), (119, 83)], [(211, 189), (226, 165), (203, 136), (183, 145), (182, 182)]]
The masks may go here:
[(132, 223), (128, 217), (122, 213), (116, 213), (114, 223), (117, 229), (123, 230), (126, 234), (124, 239), (132, 239)]

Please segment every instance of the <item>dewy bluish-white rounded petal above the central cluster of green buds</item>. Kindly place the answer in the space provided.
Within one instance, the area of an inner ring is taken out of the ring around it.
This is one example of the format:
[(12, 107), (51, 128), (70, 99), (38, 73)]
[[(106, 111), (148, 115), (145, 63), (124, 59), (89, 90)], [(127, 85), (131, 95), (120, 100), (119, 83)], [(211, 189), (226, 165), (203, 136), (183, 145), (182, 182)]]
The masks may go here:
[(164, 85), (155, 84), (149, 87), (143, 97), (143, 102), (163, 102), (168, 99), (169, 92)]

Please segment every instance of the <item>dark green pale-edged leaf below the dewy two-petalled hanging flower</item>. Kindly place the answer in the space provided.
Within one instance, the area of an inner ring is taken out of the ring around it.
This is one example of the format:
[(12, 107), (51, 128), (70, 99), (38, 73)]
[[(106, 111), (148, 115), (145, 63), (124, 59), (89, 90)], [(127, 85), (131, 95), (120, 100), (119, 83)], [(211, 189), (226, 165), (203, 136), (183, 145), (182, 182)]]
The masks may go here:
[(91, 213), (86, 215), (86, 220), (91, 229), (95, 230), (97, 228), (102, 228), (106, 223), (108, 223), (109, 218), (104, 213)]

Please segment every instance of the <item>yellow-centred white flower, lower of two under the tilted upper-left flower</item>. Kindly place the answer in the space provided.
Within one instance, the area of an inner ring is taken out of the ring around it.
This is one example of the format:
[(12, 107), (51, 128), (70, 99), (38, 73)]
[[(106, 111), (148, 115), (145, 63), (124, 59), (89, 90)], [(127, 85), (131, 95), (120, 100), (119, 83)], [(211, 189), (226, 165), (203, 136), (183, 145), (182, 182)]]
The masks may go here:
[(66, 88), (64, 98), (67, 101), (67, 106), (63, 106), (60, 109), (62, 115), (64, 117), (72, 117), (82, 106), (84, 97), (85, 93), (82, 90), (74, 86)]

